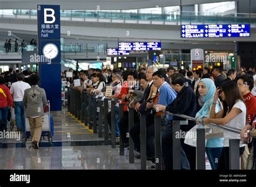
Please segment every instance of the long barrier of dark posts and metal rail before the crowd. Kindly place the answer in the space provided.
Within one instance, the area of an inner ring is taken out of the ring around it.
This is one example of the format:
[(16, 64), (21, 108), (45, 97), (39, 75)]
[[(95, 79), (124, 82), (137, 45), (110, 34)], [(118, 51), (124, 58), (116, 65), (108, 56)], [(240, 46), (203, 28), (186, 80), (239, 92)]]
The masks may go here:
[[(98, 137), (104, 136), (104, 145), (111, 145), (111, 148), (116, 148), (116, 120), (115, 100), (106, 97), (96, 98), (90, 92), (80, 93), (79, 91), (69, 88), (68, 92), (68, 112), (81, 120), (89, 129), (93, 129), (93, 133), (98, 133)], [(109, 107), (109, 102), (110, 107)], [(123, 118), (123, 106), (126, 104), (119, 103), (119, 120)], [(109, 124), (107, 122), (107, 114), (111, 113), (111, 140), (109, 140)], [(186, 120), (196, 120), (193, 117), (182, 114), (165, 113), (163, 116), (154, 116), (154, 138), (155, 138), (155, 162), (156, 169), (161, 169), (161, 119), (168, 118), (169, 115), (184, 118)], [(98, 120), (97, 120), (98, 118)], [(129, 131), (134, 125), (134, 109), (129, 108)], [(173, 121), (173, 169), (181, 169), (180, 150), (181, 141), (176, 137), (176, 132), (180, 132), (180, 126), (187, 125), (187, 121)], [(241, 130), (233, 127), (218, 126), (210, 124), (213, 127), (219, 127), (225, 131), (239, 133)], [(196, 147), (196, 169), (206, 169), (205, 165), (205, 128), (197, 129), (197, 147)], [(230, 169), (240, 169), (239, 155), (240, 139), (230, 139)], [(129, 135), (129, 163), (134, 163), (134, 144)], [(122, 137), (119, 142), (119, 155), (125, 155)], [(140, 114), (140, 168), (147, 169), (146, 164), (146, 116)]]

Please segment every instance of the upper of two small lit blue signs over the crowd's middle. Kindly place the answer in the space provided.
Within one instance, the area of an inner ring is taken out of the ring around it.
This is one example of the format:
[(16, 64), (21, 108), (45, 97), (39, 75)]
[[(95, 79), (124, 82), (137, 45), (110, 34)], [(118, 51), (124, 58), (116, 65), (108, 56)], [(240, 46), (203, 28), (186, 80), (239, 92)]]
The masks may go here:
[(161, 50), (161, 42), (119, 42), (119, 51), (157, 51)]

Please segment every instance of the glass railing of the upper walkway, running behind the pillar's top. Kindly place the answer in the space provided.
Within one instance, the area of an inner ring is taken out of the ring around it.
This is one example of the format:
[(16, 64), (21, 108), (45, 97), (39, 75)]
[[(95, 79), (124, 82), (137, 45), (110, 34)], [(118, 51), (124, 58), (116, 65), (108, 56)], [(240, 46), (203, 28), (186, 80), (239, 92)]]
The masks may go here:
[[(12, 11), (12, 12), (11, 12)], [(35, 18), (36, 10), (0, 10), (1, 17), (18, 17), (28, 16)], [(117, 12), (117, 11), (95, 11), (95, 10), (60, 10), (62, 18), (87, 18), (94, 19), (111, 19), (111, 20), (137, 20), (137, 21), (163, 21), (174, 22), (176, 24), (190, 23), (190, 24), (245, 24), (256, 23), (256, 14), (254, 13), (211, 13), (211, 12), (189, 12), (189, 11), (149, 11), (149, 13), (132, 13), (132, 12)], [(181, 19), (181, 20), (180, 20)], [(92, 20), (92, 19), (89, 19)]]

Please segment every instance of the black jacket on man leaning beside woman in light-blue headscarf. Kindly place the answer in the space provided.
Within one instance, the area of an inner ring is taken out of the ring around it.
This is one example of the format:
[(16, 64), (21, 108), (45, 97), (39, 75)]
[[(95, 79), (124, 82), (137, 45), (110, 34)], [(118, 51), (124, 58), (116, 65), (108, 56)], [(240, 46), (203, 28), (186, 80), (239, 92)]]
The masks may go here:
[[(191, 87), (183, 87), (180, 92), (178, 92), (176, 99), (173, 100), (171, 104), (166, 106), (166, 111), (175, 114), (184, 114), (186, 116), (195, 117), (197, 113), (196, 96)], [(186, 119), (173, 116), (172, 120)], [(196, 121), (188, 120), (188, 128), (196, 125)]]

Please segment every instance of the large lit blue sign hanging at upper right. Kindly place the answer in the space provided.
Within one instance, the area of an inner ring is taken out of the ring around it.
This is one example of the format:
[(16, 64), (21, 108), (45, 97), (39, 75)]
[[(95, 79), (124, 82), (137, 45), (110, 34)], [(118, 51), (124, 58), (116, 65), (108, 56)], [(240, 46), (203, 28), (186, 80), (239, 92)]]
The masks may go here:
[(181, 38), (250, 37), (250, 24), (181, 25)]

